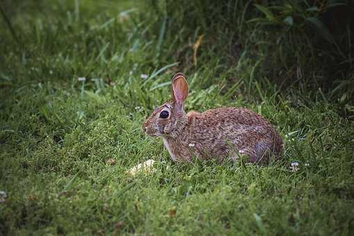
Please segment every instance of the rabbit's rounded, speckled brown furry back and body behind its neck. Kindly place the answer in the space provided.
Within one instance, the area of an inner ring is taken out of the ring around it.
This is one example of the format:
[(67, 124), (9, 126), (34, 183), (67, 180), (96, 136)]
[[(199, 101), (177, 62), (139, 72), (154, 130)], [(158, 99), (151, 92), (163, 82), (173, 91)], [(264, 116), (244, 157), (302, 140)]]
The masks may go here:
[(268, 159), (280, 153), (283, 141), (264, 117), (246, 108), (217, 108), (203, 113), (187, 114), (184, 140), (195, 143), (202, 158), (237, 159), (248, 155), (251, 162)]

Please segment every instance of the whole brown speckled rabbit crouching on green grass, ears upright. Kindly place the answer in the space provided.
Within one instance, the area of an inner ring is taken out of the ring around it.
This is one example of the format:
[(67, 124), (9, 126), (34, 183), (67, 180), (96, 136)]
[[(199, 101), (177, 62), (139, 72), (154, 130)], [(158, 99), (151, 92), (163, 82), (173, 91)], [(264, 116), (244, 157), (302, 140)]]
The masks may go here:
[(230, 158), (235, 162), (269, 162), (280, 158), (283, 140), (264, 117), (246, 108), (216, 108), (185, 113), (183, 103), (189, 87), (182, 73), (171, 79), (171, 101), (156, 108), (144, 121), (142, 130), (149, 136), (162, 137), (171, 159), (188, 161)]

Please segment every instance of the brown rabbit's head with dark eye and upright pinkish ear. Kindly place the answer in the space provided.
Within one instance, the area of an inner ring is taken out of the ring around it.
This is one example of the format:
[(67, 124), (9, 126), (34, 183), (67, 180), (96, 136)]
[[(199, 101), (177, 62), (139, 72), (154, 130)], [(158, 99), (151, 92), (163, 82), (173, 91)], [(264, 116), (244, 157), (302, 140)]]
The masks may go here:
[(176, 137), (187, 123), (183, 102), (188, 96), (188, 84), (182, 73), (174, 74), (171, 81), (171, 101), (156, 108), (144, 121), (142, 130), (150, 136)]

